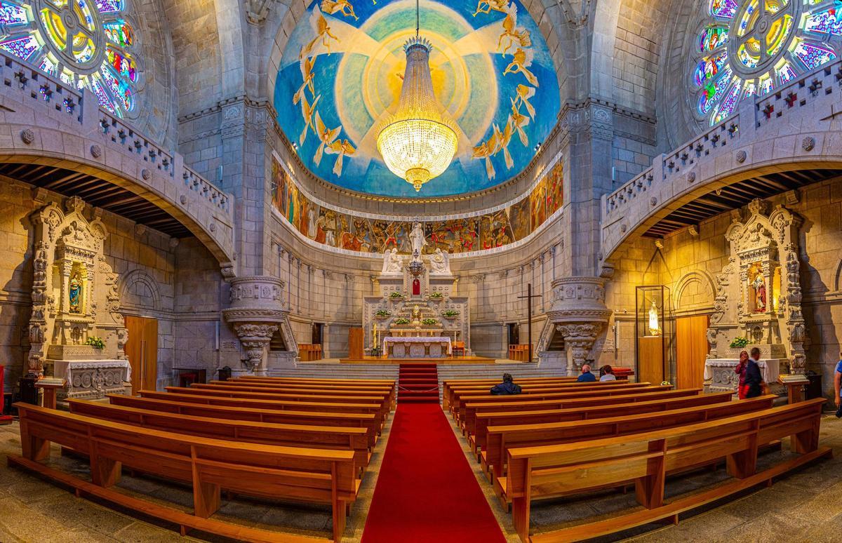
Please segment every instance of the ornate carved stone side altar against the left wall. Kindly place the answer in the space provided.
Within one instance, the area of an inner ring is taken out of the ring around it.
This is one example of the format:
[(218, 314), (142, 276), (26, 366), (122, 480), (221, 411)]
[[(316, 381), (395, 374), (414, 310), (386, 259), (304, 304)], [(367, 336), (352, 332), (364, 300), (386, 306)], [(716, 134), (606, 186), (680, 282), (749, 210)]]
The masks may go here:
[(30, 217), (35, 226), (26, 378), (64, 382), (64, 398), (124, 394), (131, 383), (118, 274), (104, 256), (100, 210), (72, 197)]

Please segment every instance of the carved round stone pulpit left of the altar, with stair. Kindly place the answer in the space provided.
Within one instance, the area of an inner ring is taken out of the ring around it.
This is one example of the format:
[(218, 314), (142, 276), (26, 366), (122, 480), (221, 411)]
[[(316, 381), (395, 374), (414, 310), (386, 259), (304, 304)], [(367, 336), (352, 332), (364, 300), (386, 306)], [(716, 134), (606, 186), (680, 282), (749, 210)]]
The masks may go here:
[(279, 331), (286, 345), (280, 358), (291, 363), (298, 355), (284, 303), (284, 287), (280, 279), (261, 275), (231, 280), (231, 305), (222, 310), (222, 315), (240, 338), (242, 363), (249, 372), (269, 373), (269, 342)]

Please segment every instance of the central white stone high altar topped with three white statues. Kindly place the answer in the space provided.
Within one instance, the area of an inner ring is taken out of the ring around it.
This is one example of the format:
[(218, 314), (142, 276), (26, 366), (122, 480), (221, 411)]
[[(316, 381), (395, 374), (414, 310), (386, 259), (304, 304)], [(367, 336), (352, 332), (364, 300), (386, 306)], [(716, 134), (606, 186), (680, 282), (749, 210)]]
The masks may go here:
[[(450, 255), (436, 249), (422, 256), (424, 232), (410, 234), (413, 254), (383, 253), (381, 273), (372, 276), (374, 295), (363, 298), (365, 353), (392, 358), (441, 358), (454, 344), (471, 349), (468, 298), (458, 295)], [(413, 340), (414, 338), (414, 340)]]

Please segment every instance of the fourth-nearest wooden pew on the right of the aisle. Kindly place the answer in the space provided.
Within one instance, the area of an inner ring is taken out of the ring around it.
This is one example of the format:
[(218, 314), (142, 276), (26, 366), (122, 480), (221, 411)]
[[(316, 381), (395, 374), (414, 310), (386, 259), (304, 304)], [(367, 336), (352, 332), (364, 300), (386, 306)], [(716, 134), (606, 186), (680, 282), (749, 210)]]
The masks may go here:
[(653, 390), (637, 390), (630, 394), (589, 396), (578, 395), (573, 397), (555, 397), (546, 400), (527, 402), (484, 402), (465, 404), (465, 432), (466, 434), (477, 433), (477, 413), (494, 413), (500, 411), (536, 411), (541, 409), (573, 409), (582, 407), (595, 407), (609, 403), (634, 403), (651, 402), (653, 400), (664, 400), (669, 398), (692, 397), (701, 394), (701, 388), (685, 388), (677, 391), (671, 390), (670, 386), (657, 386)]

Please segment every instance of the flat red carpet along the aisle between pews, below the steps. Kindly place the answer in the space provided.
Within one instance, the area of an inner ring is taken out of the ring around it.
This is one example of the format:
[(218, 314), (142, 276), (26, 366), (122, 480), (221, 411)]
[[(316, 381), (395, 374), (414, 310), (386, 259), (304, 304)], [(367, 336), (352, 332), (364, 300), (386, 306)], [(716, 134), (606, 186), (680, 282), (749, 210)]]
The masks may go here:
[(445, 413), (399, 403), (362, 543), (505, 541)]

